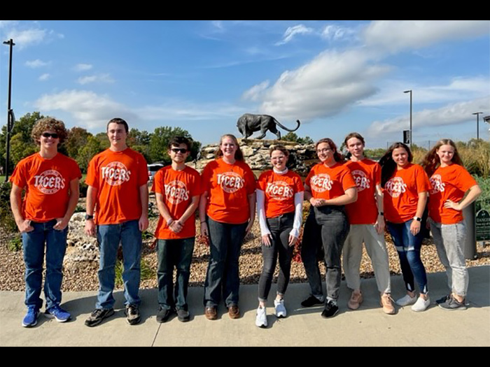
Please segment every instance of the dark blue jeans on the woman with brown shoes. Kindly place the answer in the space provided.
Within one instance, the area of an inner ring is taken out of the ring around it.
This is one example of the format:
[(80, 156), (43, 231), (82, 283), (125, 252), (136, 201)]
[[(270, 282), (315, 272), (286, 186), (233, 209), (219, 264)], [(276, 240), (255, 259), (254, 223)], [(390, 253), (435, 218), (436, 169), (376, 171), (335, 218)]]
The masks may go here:
[(207, 222), (211, 256), (204, 283), (204, 305), (217, 307), (223, 289), (226, 307), (237, 306), (240, 289), (238, 259), (247, 223), (221, 223), (209, 217)]

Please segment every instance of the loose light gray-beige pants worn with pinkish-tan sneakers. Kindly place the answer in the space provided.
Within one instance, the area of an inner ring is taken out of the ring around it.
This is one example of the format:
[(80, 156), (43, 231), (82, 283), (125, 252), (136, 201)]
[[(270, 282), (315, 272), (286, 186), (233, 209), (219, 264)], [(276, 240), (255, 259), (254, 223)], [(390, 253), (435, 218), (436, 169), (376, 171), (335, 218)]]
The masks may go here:
[(360, 261), (363, 258), (363, 243), (369, 255), (380, 293), (391, 293), (390, 265), (383, 233), (379, 234), (373, 224), (351, 224), (349, 236), (344, 243), (344, 273), (347, 287), (360, 289)]

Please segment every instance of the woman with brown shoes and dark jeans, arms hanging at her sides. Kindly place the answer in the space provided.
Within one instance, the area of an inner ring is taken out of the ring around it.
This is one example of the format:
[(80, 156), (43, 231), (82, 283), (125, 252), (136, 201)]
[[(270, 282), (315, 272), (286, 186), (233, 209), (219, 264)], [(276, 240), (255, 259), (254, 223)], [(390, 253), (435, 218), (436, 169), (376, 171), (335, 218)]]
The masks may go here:
[(215, 156), (202, 171), (199, 204), (201, 235), (209, 238), (211, 252), (204, 283), (205, 315), (209, 320), (218, 318), (223, 294), (228, 315), (238, 319), (239, 257), (255, 220), (255, 176), (235, 136), (222, 136)]

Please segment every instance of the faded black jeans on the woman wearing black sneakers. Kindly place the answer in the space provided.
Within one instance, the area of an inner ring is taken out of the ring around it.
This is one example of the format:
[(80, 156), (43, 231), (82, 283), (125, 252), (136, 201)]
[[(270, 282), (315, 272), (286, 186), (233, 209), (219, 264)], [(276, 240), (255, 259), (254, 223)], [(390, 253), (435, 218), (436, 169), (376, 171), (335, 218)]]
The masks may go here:
[(343, 206), (311, 206), (304, 224), (301, 257), (307, 273), (311, 295), (323, 301), (320, 268), (317, 254), (323, 246), (325, 265), (327, 266), (326, 283), (327, 297), (332, 300), (339, 298), (342, 267), (340, 255), (344, 241), (349, 234), (349, 221)]

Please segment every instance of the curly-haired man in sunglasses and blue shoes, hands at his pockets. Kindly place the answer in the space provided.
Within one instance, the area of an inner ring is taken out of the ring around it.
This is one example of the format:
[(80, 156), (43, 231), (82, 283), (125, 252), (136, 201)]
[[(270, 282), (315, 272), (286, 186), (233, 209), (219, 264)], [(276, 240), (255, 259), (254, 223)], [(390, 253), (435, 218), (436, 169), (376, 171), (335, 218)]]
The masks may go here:
[[(73, 159), (58, 152), (67, 136), (64, 123), (52, 117), (38, 120), (31, 133), (39, 152), (22, 159), (10, 182), (10, 205), (22, 233), (25, 261), (27, 315), (22, 326), (36, 326), (46, 257), (44, 294), (46, 317), (67, 322), (71, 315), (60, 307), (63, 259), (68, 223), (78, 203), (80, 168)], [(25, 198), (22, 202), (22, 192)]]

